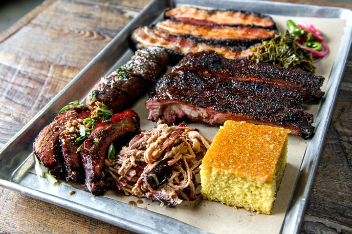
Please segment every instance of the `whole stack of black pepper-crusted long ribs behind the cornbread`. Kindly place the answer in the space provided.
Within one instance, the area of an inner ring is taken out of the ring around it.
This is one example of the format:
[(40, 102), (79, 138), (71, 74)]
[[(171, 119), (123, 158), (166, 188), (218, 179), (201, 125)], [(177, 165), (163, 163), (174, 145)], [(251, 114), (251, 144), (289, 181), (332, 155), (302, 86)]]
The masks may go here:
[[(254, 72), (256, 69), (264, 70)], [(273, 75), (267, 74), (274, 71)], [(280, 79), (275, 78), (290, 75), (303, 79), (309, 76), (303, 73), (230, 61), (213, 52), (190, 54), (170, 74), (163, 76), (150, 92), (146, 103), (148, 118), (175, 123), (177, 119), (187, 117), (211, 125), (223, 124), (228, 119), (244, 120), (287, 128), (294, 135), (308, 138), (314, 127), (311, 125), (313, 115), (303, 111), (307, 90), (293, 88), (283, 81), (279, 83)], [(263, 76), (276, 80), (266, 82)], [(315, 90), (319, 87), (315, 86)]]

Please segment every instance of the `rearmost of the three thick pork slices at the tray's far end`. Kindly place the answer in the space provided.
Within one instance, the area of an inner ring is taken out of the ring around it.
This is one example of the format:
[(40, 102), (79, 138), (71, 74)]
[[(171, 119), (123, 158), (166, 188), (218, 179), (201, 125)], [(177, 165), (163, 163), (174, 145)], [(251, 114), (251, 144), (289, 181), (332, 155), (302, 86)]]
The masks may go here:
[(206, 10), (195, 7), (175, 7), (164, 13), (165, 18), (203, 25), (246, 25), (274, 28), (274, 21), (266, 15), (237, 10)]

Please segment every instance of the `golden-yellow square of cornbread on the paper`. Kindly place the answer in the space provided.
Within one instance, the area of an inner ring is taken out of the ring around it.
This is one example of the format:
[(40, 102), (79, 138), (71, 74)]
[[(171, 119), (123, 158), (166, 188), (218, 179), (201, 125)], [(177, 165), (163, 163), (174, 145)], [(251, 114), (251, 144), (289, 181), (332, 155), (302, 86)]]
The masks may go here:
[(226, 121), (200, 166), (203, 198), (271, 214), (287, 165), (289, 132)]

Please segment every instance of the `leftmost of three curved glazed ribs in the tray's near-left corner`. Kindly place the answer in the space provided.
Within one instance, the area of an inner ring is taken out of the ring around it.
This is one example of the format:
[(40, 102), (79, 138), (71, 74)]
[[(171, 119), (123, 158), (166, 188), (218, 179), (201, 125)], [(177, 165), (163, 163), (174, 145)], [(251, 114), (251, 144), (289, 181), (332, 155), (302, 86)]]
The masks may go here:
[(85, 111), (83, 105), (70, 105), (60, 112), (55, 119), (36, 137), (33, 143), (33, 152), (51, 175), (57, 178), (66, 176), (64, 158), (60, 149), (59, 135), (66, 122), (78, 113)]

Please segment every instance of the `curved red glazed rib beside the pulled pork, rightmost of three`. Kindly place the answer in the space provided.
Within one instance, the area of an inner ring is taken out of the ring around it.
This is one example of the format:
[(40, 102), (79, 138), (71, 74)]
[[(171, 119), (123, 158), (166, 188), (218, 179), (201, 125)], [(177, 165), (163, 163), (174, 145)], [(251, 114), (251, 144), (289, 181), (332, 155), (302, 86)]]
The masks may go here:
[(110, 144), (124, 136), (132, 138), (139, 132), (139, 117), (130, 109), (114, 114), (110, 121), (97, 125), (91, 131), (82, 146), (81, 156), (86, 185), (94, 196), (106, 190), (105, 157)]

